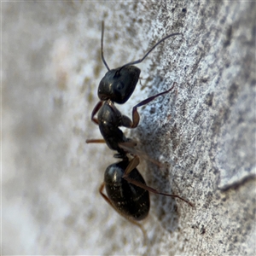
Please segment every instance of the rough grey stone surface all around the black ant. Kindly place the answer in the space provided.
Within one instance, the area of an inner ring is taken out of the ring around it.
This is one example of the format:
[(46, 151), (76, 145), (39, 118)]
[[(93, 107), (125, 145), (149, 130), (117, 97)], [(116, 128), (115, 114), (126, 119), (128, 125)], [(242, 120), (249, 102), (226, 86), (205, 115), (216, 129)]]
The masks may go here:
[[(2, 3), (2, 254), (255, 254), (255, 3)], [(146, 154), (148, 185), (195, 203), (151, 195), (136, 226), (98, 194), (115, 160), (90, 122), (101, 20), (109, 67), (136, 60), (129, 102), (172, 93), (140, 109), (127, 131)], [(149, 160), (165, 164), (155, 166)]]

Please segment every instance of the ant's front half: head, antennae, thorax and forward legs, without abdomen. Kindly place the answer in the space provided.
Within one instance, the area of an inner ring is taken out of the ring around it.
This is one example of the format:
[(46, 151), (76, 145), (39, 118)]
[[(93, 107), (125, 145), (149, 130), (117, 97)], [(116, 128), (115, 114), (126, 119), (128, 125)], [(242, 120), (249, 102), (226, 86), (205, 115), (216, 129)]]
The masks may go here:
[[(155, 96), (151, 96), (134, 106), (132, 109), (132, 119), (129, 119), (127, 116), (121, 114), (114, 106), (114, 102), (119, 104), (127, 102), (135, 90), (141, 70), (133, 65), (142, 62), (148, 56), (148, 54), (157, 45), (166, 40), (166, 38), (179, 34), (180, 33), (174, 33), (162, 38), (157, 44), (154, 44), (154, 46), (148, 50), (147, 54), (144, 55), (142, 59), (126, 63), (121, 67), (110, 70), (103, 55), (104, 23), (102, 22), (102, 61), (107, 67), (108, 72), (105, 74), (99, 84), (98, 96), (101, 101), (98, 102), (96, 107), (93, 109), (91, 119), (97, 125), (99, 125), (104, 141), (87, 140), (87, 143), (107, 143), (109, 148), (118, 151), (118, 154), (115, 154), (115, 156), (119, 158), (122, 158), (126, 154), (125, 150), (119, 147), (119, 144), (130, 142), (131, 139), (126, 138), (123, 131), (121, 131), (119, 127), (124, 126), (127, 128), (136, 128), (140, 119), (139, 114), (137, 113), (137, 108), (153, 101), (154, 98), (158, 96), (166, 94), (173, 89), (173, 86), (171, 89), (161, 92)], [(98, 113), (97, 119), (95, 118), (96, 113)]]

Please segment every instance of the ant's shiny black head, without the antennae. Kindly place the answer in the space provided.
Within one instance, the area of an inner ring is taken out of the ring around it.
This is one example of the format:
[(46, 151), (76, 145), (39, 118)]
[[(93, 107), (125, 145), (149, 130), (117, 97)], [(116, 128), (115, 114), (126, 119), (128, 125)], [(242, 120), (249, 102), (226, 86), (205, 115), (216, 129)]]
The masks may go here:
[(101, 101), (110, 99), (123, 104), (128, 101), (136, 87), (141, 70), (135, 66), (118, 67), (109, 70), (99, 84)]

